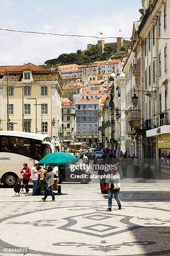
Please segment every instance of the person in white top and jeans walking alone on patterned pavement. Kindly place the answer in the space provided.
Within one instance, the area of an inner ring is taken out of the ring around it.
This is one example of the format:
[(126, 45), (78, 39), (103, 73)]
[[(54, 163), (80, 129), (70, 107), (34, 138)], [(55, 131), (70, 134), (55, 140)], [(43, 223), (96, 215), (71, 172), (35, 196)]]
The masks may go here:
[(121, 210), (121, 202), (119, 199), (119, 192), (120, 192), (120, 174), (117, 172), (117, 170), (110, 170), (109, 174), (112, 175), (112, 177), (106, 178), (106, 183), (108, 184), (108, 209), (107, 212), (112, 211), (112, 197), (114, 195), (115, 200), (118, 205), (118, 210)]

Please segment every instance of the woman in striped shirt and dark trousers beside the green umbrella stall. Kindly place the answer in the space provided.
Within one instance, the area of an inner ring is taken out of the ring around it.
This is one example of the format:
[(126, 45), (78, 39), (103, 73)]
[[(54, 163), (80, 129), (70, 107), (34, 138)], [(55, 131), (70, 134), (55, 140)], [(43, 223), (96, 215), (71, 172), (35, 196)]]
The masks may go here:
[(52, 184), (54, 183), (54, 173), (52, 171), (53, 171), (52, 166), (48, 166), (47, 176), (45, 177), (45, 180), (47, 181), (47, 189), (45, 192), (45, 197), (41, 198), (44, 202), (45, 202), (47, 196), (49, 195), (49, 193), (52, 196), (51, 201), (55, 201), (55, 195), (54, 195), (54, 192), (52, 191)]

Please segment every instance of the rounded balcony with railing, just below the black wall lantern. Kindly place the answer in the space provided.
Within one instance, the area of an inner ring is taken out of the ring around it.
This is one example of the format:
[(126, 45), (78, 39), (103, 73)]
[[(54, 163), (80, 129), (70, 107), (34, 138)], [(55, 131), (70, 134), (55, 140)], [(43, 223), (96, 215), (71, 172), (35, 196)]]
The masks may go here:
[(126, 120), (131, 127), (136, 128), (140, 125), (141, 113), (140, 110), (128, 110), (126, 112)]

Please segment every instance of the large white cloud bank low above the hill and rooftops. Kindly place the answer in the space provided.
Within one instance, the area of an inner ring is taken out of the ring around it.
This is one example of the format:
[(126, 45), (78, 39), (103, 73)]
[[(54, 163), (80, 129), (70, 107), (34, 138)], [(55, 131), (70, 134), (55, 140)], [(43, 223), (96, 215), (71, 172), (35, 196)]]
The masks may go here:
[[(68, 18), (57, 17), (52, 24), (44, 24), (42, 28), (38, 28), (38, 31), (98, 37), (102, 32), (103, 37), (124, 36), (130, 38), (133, 20), (139, 20), (139, 17), (140, 14), (136, 12), (136, 9), (122, 10), (120, 13), (113, 13), (112, 16), (106, 13), (102, 15), (102, 18), (96, 14), (90, 19), (77, 13)], [(119, 29), (122, 32), (119, 32)], [(32, 31), (35, 29), (32, 28)], [(45, 36), (5, 31), (0, 33), (0, 65), (23, 64), (29, 61), (39, 64), (47, 59), (57, 58), (62, 53), (75, 52), (80, 48), (86, 49), (88, 43), (97, 44), (97, 38)], [(113, 42), (115, 39), (105, 41)]]

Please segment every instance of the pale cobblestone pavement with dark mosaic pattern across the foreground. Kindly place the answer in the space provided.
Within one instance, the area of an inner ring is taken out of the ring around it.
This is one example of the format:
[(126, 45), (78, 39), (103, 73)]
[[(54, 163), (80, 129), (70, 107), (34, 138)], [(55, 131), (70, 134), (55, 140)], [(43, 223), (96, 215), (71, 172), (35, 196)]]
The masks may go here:
[(11, 194), (0, 189), (1, 256), (170, 255), (170, 190), (122, 191), (122, 210), (113, 200), (112, 212), (99, 189), (67, 190), (55, 202)]

